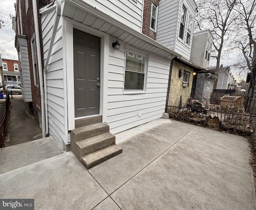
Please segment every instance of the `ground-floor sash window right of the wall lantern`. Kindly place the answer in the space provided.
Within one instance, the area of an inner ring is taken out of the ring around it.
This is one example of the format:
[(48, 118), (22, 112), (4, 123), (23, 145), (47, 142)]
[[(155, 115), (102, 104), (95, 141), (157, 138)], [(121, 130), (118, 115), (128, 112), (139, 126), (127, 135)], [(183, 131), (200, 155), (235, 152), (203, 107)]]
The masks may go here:
[(144, 90), (146, 56), (126, 52), (124, 90)]

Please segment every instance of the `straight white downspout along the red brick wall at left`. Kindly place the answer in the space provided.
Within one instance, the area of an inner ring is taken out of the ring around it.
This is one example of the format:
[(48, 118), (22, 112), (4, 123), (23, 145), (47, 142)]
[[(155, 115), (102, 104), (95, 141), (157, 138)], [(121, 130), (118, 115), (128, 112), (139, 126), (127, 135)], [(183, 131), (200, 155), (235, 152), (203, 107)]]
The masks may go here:
[(44, 116), (44, 91), (43, 91), (43, 77), (42, 77), (42, 63), (41, 63), (41, 48), (40, 48), (40, 37), (38, 29), (38, 17), (37, 17), (37, 1), (32, 0), (33, 15), (34, 15), (34, 25), (35, 25), (35, 39), (36, 39), (36, 53), (38, 57), (38, 75), (39, 75), (39, 85), (40, 85), (40, 96), (41, 96), (41, 115), (42, 115), (42, 137), (45, 138), (45, 116)]

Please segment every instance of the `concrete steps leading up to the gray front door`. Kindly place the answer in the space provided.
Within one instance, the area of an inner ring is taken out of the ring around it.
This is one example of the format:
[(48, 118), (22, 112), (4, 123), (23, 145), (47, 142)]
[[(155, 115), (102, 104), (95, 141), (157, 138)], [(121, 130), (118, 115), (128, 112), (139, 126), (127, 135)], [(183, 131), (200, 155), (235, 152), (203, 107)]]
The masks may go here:
[(71, 131), (71, 151), (87, 169), (122, 153), (109, 126), (100, 121), (101, 116), (79, 119)]

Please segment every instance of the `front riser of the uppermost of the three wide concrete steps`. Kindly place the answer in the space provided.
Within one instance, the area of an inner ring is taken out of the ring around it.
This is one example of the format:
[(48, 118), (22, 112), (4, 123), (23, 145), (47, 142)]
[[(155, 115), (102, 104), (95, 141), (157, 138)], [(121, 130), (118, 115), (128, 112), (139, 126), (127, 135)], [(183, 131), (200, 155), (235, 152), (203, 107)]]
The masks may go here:
[(109, 132), (109, 126), (100, 127), (100, 128), (92, 129), (89, 131), (81, 131), (79, 133), (75, 133), (71, 131), (71, 139), (72, 141), (77, 142), (77, 141), (95, 137), (108, 132)]

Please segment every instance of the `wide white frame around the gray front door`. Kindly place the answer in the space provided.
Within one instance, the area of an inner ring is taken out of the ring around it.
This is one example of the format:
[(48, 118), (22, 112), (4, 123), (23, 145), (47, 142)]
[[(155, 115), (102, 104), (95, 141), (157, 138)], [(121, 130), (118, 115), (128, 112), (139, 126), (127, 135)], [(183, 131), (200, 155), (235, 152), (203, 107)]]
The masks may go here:
[[(101, 38), (101, 60), (100, 60), (100, 115), (102, 115), (102, 122), (107, 122), (107, 103), (108, 103), (108, 54), (109, 54), (109, 34), (86, 26), (82, 23), (76, 22), (70, 18), (63, 18), (63, 62), (64, 62), (64, 85), (66, 84), (67, 94), (64, 95), (65, 100), (67, 100), (68, 106), (66, 107), (66, 112), (68, 117), (67, 121), (68, 130), (75, 129), (75, 107), (74, 107), (74, 60), (73, 60), (73, 28), (82, 30), (86, 33), (98, 36)], [(112, 44), (112, 42), (111, 42)]]

